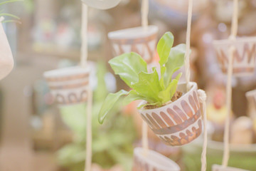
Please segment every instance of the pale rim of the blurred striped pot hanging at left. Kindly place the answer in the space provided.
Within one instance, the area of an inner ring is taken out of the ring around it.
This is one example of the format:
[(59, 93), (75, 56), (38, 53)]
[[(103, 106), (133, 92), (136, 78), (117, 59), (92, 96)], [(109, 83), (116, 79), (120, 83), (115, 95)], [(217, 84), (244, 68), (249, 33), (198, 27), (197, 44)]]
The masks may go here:
[(46, 71), (43, 73), (45, 78), (56, 78), (56, 77), (65, 77), (65, 76), (73, 76), (80, 73), (89, 73), (90, 66), (86, 68), (82, 68), (81, 66), (71, 66), (66, 68), (58, 68), (50, 71)]

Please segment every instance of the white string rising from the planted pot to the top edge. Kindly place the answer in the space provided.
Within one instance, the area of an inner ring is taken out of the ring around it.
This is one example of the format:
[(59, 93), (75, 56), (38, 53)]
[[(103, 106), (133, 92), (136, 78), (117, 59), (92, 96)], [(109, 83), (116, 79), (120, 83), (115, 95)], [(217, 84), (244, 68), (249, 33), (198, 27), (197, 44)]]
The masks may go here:
[(186, 83), (187, 90), (189, 90), (188, 83), (190, 81), (190, 37), (191, 37), (191, 21), (192, 21), (192, 9), (193, 9), (193, 0), (188, 0), (188, 23), (187, 23), (187, 32), (186, 32), (186, 53), (185, 53), (185, 72), (186, 72)]

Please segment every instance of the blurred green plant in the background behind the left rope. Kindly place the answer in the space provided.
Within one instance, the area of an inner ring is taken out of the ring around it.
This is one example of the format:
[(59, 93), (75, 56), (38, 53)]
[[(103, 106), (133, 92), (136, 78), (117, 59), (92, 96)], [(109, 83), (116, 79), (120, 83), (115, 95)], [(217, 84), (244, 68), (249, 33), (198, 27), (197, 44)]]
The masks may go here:
[[(98, 83), (92, 107), (92, 162), (102, 167), (120, 164), (125, 170), (131, 170), (132, 142), (135, 138), (132, 118), (118, 113), (120, 104), (117, 103), (112, 109), (110, 122), (104, 125), (97, 122), (97, 113), (108, 93), (104, 79), (105, 73), (105, 65), (99, 63)], [(63, 107), (60, 112), (64, 123), (73, 130), (75, 136), (72, 143), (58, 151), (58, 162), (71, 171), (82, 171), (85, 163), (86, 105)]]

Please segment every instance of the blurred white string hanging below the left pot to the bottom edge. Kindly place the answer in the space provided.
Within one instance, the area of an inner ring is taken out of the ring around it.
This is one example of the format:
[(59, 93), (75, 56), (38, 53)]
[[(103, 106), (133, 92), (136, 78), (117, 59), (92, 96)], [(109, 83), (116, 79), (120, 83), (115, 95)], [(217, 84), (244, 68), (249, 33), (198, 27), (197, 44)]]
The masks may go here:
[(85, 171), (92, 167), (92, 89), (88, 88)]

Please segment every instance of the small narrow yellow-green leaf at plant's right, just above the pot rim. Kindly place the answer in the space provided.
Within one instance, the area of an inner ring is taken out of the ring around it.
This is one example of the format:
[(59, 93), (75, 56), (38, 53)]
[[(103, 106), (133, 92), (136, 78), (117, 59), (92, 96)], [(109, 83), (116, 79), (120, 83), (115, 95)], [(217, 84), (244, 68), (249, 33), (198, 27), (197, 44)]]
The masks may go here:
[(159, 98), (162, 99), (162, 103), (166, 103), (174, 96), (174, 93), (176, 92), (176, 88), (178, 85), (178, 81), (176, 79), (172, 80), (171, 83), (169, 83), (169, 86), (165, 90), (162, 90), (159, 93)]

